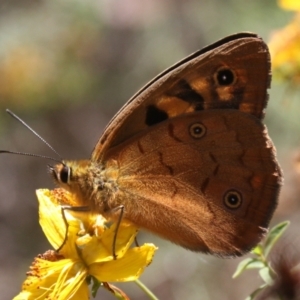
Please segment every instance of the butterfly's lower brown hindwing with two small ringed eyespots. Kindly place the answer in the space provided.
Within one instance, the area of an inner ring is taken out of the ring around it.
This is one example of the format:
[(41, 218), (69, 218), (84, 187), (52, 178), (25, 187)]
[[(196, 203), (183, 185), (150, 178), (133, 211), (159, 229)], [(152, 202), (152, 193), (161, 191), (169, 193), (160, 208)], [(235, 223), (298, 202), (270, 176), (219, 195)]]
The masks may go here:
[(118, 172), (109, 206), (123, 204), (126, 219), (194, 251), (249, 251), (277, 204), (281, 172), (266, 128), (236, 110), (161, 122), (104, 159)]

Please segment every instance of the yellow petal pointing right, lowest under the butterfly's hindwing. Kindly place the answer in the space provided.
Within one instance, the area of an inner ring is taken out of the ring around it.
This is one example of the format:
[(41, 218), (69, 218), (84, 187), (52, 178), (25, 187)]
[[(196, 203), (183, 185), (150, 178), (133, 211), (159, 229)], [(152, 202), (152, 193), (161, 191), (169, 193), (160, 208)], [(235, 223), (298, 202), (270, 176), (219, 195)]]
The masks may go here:
[(90, 265), (89, 274), (100, 282), (136, 280), (151, 263), (156, 249), (153, 244), (129, 249), (121, 259)]

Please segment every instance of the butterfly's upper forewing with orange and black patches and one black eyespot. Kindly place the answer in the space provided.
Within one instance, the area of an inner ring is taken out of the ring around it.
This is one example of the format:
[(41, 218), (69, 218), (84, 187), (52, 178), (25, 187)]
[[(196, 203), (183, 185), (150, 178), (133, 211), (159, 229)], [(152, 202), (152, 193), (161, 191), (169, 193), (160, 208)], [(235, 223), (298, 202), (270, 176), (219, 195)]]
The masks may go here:
[(270, 55), (257, 35), (240, 33), (167, 69), (116, 114), (98, 141), (92, 160), (129, 137), (176, 116), (207, 109), (238, 109), (259, 119), (267, 105)]

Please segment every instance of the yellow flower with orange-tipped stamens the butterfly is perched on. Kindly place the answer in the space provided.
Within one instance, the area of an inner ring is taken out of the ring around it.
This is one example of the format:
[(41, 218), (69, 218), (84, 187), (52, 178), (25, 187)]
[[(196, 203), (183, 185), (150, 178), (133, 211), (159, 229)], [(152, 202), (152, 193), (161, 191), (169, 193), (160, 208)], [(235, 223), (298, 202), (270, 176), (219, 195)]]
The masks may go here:
[(73, 214), (64, 210), (66, 228), (60, 204), (72, 204), (72, 196), (62, 189), (38, 190), (37, 196), (43, 231), (51, 245), (61, 249), (58, 252), (49, 250), (35, 258), (22, 292), (15, 300), (89, 299), (91, 280), (100, 283), (136, 280), (151, 263), (156, 250), (153, 244), (130, 248), (137, 234), (133, 225), (121, 222), (115, 243), (117, 257), (114, 259), (116, 224), (107, 228), (106, 220), (100, 215), (89, 212)]

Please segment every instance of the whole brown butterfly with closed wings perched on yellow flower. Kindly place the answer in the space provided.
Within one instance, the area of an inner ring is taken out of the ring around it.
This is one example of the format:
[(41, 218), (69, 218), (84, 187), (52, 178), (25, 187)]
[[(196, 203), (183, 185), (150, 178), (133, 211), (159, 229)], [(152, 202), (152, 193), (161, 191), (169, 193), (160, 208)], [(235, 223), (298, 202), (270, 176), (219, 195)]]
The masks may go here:
[(162, 72), (115, 115), (90, 160), (51, 168), (78, 205), (193, 251), (242, 255), (267, 232), (282, 174), (261, 120), (266, 44), (239, 33)]

